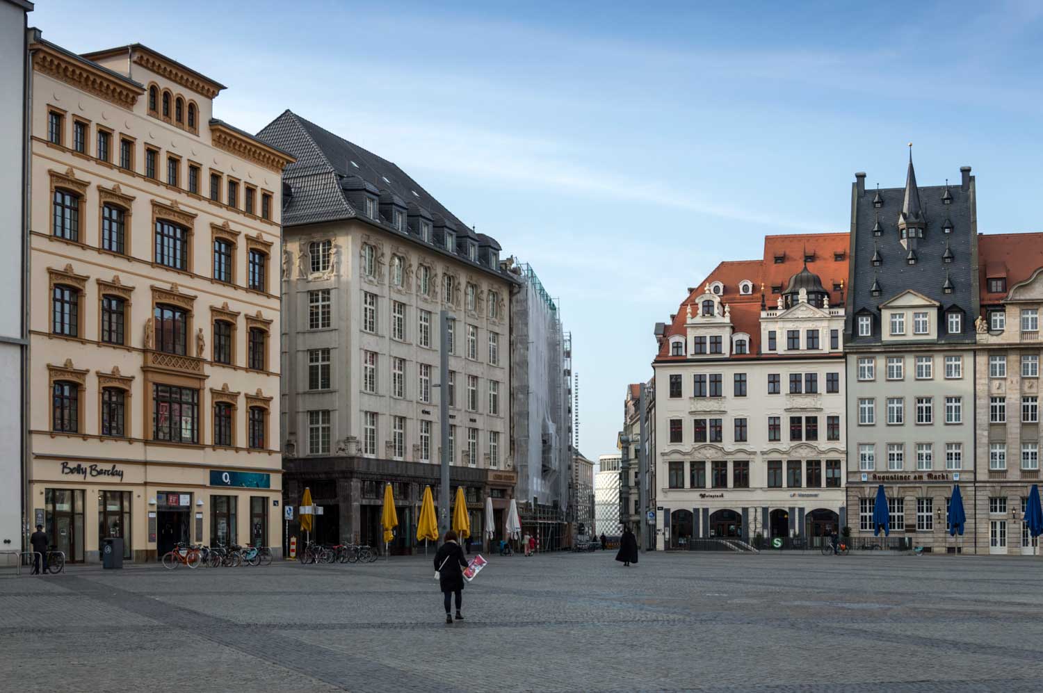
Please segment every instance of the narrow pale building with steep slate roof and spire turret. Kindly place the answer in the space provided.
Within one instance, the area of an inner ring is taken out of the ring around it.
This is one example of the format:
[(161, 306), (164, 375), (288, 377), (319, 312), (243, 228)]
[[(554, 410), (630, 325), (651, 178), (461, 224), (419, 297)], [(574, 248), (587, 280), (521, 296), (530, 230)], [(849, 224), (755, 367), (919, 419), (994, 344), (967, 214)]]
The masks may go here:
[[(974, 177), (919, 188), (851, 188), (847, 351), (848, 525), (873, 536), (877, 487), (890, 541), (963, 548), (946, 533), (953, 485), (974, 497), (978, 248)], [(972, 544), (973, 542), (967, 542)]]

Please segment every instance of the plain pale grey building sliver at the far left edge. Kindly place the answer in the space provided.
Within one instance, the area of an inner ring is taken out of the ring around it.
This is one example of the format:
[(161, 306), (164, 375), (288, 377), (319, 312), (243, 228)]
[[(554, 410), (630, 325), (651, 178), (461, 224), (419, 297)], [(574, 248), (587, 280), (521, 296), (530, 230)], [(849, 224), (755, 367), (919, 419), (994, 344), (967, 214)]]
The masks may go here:
[(0, 1), (0, 283), (7, 299), (0, 306), (0, 387), (7, 396), (0, 403), (0, 446), (7, 451), (0, 462), (0, 550), (22, 550), (28, 539), (30, 518), (25, 512), (26, 398), (25, 364), (28, 357), (25, 282), (28, 239), (26, 231), (26, 103), (28, 43), (26, 14), (31, 2)]

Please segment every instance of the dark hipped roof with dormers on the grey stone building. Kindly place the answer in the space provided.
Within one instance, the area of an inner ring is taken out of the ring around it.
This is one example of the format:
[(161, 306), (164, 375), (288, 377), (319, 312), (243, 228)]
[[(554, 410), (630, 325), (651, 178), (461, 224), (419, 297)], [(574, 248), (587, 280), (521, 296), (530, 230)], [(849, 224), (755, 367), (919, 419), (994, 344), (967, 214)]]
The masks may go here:
[[(365, 191), (377, 197), (381, 204), (405, 207), (410, 217), (432, 220), (434, 226), (446, 226), (458, 238), (468, 238), (480, 246), (501, 250), (495, 239), (476, 233), (469, 224), (460, 221), (395, 164), (289, 109), (258, 132), (257, 139), (297, 157), (295, 163), (283, 171), (283, 182), (292, 189), (292, 196), (283, 209), (284, 226), (359, 219), (393, 231), (385, 223), (388, 220), (373, 221), (366, 218), (345, 195), (345, 192), (360, 194)], [(414, 234), (409, 234), (409, 238), (421, 243)], [(440, 250), (435, 245), (432, 248)], [(462, 248), (460, 253), (451, 254), (461, 262), (493, 270), (487, 265), (471, 263)], [(510, 278), (509, 274), (501, 272), (499, 268), (494, 271)]]

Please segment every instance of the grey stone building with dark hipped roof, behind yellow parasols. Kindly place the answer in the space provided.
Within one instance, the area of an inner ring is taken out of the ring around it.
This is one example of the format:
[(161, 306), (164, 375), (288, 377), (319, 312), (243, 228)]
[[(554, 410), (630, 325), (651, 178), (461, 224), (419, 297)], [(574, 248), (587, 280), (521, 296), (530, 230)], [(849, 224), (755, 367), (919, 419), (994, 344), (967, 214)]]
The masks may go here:
[[(465, 489), (476, 538), (491, 497), (499, 536), (516, 482), (508, 395), (517, 283), (500, 245), (394, 164), (296, 114), (258, 137), (297, 157), (283, 177), (286, 502), (310, 488), (323, 508), (312, 539), (383, 547), (390, 482), (398, 528), (389, 548), (414, 551), (423, 488), (439, 498), (446, 396), (451, 482)], [(442, 310), (453, 317), (445, 383)]]

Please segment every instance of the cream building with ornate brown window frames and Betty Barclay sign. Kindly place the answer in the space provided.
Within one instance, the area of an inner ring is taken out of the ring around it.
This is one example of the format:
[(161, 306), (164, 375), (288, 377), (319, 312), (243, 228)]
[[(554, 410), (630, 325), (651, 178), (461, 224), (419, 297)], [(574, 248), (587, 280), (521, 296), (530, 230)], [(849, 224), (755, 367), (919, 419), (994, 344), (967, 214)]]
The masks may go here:
[(70, 561), (105, 538), (282, 544), (283, 167), (223, 85), (141, 45), (30, 35), (27, 508)]

